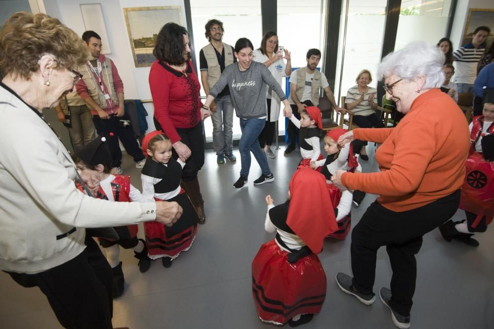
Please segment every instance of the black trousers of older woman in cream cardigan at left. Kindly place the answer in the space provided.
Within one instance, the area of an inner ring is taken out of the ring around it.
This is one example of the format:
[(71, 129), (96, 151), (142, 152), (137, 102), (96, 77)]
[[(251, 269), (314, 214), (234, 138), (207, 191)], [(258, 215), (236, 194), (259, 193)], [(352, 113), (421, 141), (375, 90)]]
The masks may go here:
[(98, 245), (86, 237), (86, 249), (68, 262), (37, 274), (10, 274), (23, 287), (38, 286), (64, 328), (111, 329), (112, 268)]

